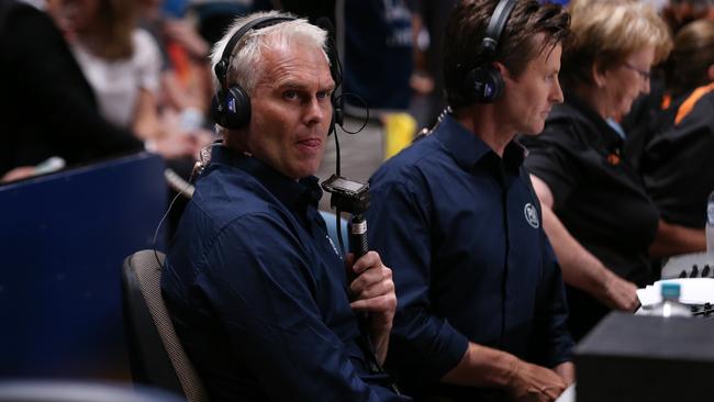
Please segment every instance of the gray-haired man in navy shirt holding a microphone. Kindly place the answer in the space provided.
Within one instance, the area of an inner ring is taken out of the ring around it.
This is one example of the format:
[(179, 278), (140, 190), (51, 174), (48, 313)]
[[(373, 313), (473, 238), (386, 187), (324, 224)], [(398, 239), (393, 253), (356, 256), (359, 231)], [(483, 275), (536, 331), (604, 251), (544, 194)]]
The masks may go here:
[[(237, 20), (213, 52), (224, 142), (198, 178), (161, 289), (214, 402), (408, 400), (370, 370), (389, 345), (391, 270), (370, 252), (347, 261), (347, 283), (316, 210), (337, 77), (327, 54), (325, 31), (277, 12)], [(369, 312), (369, 333), (355, 311)]]

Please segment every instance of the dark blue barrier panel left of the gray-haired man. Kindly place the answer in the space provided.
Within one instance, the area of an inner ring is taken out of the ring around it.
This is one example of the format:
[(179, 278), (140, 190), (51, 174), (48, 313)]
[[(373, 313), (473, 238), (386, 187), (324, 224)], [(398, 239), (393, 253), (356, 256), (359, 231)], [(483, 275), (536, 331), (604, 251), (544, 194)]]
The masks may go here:
[(141, 153), (0, 187), (0, 378), (129, 378), (120, 269), (152, 247), (163, 172)]

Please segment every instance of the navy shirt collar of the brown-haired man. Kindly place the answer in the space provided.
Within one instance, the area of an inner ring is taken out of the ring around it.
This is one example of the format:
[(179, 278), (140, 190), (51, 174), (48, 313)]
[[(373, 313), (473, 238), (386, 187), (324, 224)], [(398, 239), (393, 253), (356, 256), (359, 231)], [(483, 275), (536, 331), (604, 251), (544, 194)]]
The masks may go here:
[(468, 131), (451, 114), (445, 114), (434, 135), (444, 144), (446, 149), (453, 155), (456, 163), (465, 170), (471, 170), (482, 159), (498, 160), (502, 159), (504, 167), (512, 171), (518, 171), (525, 159), (525, 148), (511, 141), (503, 150), (503, 158), (491, 149), (477, 135)]

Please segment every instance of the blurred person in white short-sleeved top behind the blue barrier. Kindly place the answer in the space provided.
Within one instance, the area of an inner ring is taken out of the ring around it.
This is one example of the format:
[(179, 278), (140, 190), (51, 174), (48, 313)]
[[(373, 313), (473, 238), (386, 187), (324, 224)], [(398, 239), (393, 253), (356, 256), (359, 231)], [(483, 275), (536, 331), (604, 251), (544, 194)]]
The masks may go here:
[(149, 144), (171, 145), (165, 156), (196, 156), (210, 138), (159, 119), (161, 57), (156, 41), (137, 26), (138, 11), (140, 0), (57, 0), (52, 8), (104, 118)]

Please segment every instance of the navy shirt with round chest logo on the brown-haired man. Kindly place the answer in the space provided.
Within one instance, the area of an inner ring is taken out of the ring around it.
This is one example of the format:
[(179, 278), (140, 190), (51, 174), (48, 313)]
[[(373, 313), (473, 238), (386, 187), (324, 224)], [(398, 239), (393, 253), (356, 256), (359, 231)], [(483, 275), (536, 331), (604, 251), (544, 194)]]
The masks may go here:
[(369, 243), (399, 298), (388, 362), (414, 397), (487, 400), (437, 383), (469, 340), (547, 367), (571, 357), (560, 269), (523, 158), (515, 143), (499, 157), (446, 115), (370, 179)]

